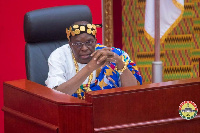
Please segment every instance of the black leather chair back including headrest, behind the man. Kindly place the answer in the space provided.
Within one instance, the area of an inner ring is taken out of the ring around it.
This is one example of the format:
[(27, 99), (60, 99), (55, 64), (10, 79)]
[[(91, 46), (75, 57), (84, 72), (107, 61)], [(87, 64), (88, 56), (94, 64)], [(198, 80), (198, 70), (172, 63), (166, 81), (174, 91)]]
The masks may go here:
[(56, 48), (68, 43), (66, 28), (76, 21), (92, 23), (92, 14), (87, 6), (51, 7), (25, 14), (27, 79), (45, 85), (49, 71), (48, 57)]

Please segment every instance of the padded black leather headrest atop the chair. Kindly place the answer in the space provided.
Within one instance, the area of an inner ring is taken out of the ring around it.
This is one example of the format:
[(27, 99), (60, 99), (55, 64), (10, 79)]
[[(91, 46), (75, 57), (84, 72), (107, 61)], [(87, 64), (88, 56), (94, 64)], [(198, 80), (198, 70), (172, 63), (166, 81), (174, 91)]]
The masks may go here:
[(25, 41), (35, 43), (66, 40), (66, 28), (76, 21), (92, 23), (88, 6), (59, 6), (28, 12), (24, 16)]

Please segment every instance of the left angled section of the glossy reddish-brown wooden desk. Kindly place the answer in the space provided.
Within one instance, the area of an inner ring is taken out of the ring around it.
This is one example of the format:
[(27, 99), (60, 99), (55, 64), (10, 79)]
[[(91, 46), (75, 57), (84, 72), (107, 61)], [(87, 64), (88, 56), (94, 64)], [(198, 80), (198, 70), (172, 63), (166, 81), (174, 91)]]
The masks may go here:
[(93, 132), (92, 104), (28, 80), (4, 83), (5, 133)]

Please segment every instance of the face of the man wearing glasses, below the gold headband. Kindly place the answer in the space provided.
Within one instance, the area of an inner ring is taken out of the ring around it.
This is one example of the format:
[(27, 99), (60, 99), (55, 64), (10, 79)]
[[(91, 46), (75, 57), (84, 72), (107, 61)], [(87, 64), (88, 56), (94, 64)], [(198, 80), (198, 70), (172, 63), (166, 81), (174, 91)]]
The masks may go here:
[(90, 55), (95, 51), (96, 39), (87, 33), (83, 33), (77, 36), (72, 36), (69, 45), (76, 61), (82, 64), (87, 64), (92, 59)]

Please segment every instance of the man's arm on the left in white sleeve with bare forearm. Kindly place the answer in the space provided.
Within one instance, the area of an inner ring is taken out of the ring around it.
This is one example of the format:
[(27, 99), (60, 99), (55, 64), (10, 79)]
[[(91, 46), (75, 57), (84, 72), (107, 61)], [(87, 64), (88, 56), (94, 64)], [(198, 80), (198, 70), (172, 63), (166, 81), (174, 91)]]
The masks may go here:
[(45, 83), (49, 88), (71, 95), (76, 92), (85, 79), (102, 64), (97, 65), (95, 60), (91, 60), (76, 74), (72, 69), (74, 67), (74, 62), (70, 54), (67, 53), (70, 53), (70, 51), (67, 47), (64, 47), (62, 49), (57, 49), (51, 54), (48, 59), (49, 72)]

